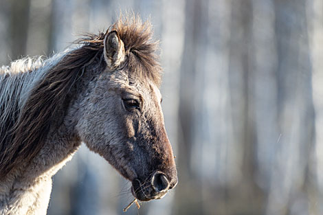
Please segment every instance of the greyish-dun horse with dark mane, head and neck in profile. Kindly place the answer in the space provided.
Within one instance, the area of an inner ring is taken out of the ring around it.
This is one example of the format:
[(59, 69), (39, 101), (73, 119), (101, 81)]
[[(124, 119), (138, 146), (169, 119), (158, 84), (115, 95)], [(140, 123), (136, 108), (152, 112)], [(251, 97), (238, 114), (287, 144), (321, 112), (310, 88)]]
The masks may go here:
[(0, 214), (46, 214), (52, 176), (82, 143), (131, 181), (139, 201), (177, 185), (151, 23), (120, 16), (74, 43), (0, 69)]

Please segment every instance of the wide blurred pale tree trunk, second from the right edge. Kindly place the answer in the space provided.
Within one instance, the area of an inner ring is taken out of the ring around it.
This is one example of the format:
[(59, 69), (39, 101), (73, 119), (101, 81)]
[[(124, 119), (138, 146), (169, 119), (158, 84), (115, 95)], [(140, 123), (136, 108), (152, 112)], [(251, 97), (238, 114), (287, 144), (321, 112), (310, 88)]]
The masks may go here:
[(281, 137), (271, 171), (267, 214), (310, 214), (306, 190), (314, 114), (306, 1), (274, 1)]

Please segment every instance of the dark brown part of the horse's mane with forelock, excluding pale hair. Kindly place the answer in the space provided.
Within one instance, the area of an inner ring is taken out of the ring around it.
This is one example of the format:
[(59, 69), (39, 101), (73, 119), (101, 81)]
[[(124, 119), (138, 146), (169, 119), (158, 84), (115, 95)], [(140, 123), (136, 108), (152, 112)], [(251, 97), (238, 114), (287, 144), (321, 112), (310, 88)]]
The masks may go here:
[[(120, 18), (109, 29), (117, 30), (124, 42), (129, 70), (159, 85), (161, 69), (155, 54), (157, 43), (152, 41), (151, 24), (142, 23), (138, 18)], [(86, 67), (105, 66), (102, 60), (104, 36), (103, 33), (87, 34), (76, 41), (81, 46), (65, 54), (48, 69), (35, 84), (23, 108), (18, 110), (19, 115), (14, 111), (11, 117), (7, 117), (11, 122), (0, 122), (0, 179), (15, 167), (34, 159), (43, 148), (49, 129), (62, 122), (71, 89)], [(1, 89), (0, 93), (3, 93)], [(3, 106), (0, 104), (1, 109)]]

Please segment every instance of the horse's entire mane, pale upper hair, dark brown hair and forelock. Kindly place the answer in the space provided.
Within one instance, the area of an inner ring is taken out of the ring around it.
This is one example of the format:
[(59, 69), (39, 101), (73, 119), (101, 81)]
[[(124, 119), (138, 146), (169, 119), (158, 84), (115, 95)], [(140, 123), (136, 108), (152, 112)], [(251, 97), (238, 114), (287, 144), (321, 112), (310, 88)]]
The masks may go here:
[[(124, 42), (129, 71), (139, 78), (150, 78), (159, 86), (161, 69), (155, 54), (157, 42), (152, 39), (151, 23), (142, 23), (138, 17), (120, 16), (105, 34), (85, 34), (74, 42), (78, 48), (56, 57), (54, 63), (51, 58), (44, 63), (25, 58), (13, 62), (11, 67), (1, 67), (0, 179), (38, 155), (52, 126), (63, 122), (71, 90), (85, 69), (88, 66), (93, 69), (93, 65), (96, 69), (106, 66), (102, 60), (103, 41), (110, 29), (116, 30)], [(37, 76), (38, 80), (29, 81), (32, 87), (23, 84), (27, 76), (35, 78), (32, 74), (40, 72), (43, 74)], [(22, 93), (27, 87), (28, 92)]]

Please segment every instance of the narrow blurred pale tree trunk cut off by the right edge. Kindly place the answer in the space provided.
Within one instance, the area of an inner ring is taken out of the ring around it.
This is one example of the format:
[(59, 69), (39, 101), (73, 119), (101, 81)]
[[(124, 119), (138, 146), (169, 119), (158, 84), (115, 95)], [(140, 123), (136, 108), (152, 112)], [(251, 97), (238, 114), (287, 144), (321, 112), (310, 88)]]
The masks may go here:
[(313, 100), (315, 106), (315, 150), (310, 170), (313, 214), (323, 214), (323, 1), (308, 1), (309, 41), (313, 62)]

